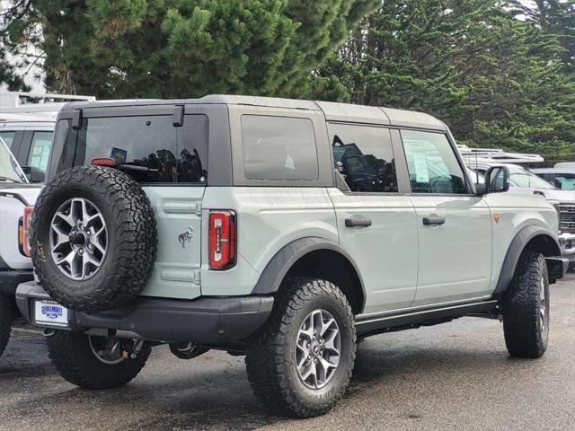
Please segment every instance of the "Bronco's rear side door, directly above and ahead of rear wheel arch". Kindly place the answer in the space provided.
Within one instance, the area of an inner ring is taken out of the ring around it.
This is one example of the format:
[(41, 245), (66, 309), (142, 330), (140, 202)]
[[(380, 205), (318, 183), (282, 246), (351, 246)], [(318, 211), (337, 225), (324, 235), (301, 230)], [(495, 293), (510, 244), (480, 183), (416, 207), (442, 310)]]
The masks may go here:
[(341, 245), (363, 277), (364, 312), (409, 307), (417, 283), (417, 227), (411, 200), (398, 186), (390, 130), (343, 123), (328, 128), (340, 177), (330, 198)]

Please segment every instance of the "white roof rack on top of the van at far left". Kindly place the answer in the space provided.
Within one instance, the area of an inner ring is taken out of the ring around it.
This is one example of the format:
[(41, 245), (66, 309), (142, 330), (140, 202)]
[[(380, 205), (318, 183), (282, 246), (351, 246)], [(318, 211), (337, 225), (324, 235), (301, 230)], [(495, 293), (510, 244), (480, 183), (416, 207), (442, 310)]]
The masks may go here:
[[(0, 111), (6, 110), (54, 110), (66, 101), (95, 101), (94, 96), (55, 94), (43, 92), (0, 92)], [(28, 102), (27, 102), (28, 101)]]

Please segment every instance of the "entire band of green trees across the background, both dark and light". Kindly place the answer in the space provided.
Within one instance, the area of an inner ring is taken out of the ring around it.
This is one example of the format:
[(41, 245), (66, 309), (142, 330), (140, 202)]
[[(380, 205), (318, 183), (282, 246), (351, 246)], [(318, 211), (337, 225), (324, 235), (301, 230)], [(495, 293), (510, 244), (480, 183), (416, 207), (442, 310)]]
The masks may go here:
[(0, 22), (13, 89), (6, 53), (32, 45), (49, 91), (385, 105), (463, 144), (575, 160), (575, 0), (14, 0)]

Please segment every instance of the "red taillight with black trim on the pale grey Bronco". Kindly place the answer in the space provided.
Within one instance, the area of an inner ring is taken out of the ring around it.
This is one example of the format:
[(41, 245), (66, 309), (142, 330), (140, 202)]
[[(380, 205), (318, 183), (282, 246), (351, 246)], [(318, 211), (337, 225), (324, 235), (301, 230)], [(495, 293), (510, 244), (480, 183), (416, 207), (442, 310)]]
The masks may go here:
[(226, 269), (235, 264), (235, 213), (210, 211), (208, 229), (210, 269)]

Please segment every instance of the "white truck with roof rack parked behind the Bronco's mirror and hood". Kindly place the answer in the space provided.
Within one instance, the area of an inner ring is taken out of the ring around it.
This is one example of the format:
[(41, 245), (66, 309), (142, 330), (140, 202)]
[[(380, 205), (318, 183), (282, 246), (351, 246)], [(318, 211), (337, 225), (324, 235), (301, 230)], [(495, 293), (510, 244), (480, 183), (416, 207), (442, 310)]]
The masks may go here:
[(558, 189), (549, 181), (515, 164), (469, 160), (467, 166), (480, 173), (486, 172), (492, 166), (507, 166), (511, 191), (514, 193), (536, 193), (549, 200), (559, 212), (559, 242), (562, 246), (562, 255), (570, 260), (571, 267), (575, 267), (575, 192), (569, 189)]

